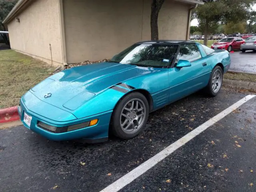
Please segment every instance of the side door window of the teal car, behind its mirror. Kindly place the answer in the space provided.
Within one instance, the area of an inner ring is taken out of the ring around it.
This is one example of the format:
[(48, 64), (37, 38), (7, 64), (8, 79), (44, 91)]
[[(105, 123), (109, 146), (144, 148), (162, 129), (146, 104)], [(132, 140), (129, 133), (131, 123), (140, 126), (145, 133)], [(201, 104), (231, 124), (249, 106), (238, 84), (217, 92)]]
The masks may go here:
[(183, 59), (193, 62), (202, 58), (201, 53), (196, 44), (183, 44), (180, 46), (180, 51), (177, 56), (177, 60)]

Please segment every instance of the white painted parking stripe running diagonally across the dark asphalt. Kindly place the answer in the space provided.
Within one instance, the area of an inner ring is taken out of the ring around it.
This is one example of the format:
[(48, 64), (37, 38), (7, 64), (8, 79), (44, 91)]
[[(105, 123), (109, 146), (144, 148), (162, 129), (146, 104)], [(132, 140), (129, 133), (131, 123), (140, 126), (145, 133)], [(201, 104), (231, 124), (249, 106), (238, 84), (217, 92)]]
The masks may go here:
[(256, 95), (248, 95), (229, 108), (225, 109), (224, 111), (220, 112), (218, 115), (214, 116), (210, 120), (206, 121), (204, 124), (200, 125), (193, 131), (186, 134), (184, 137), (180, 138), (173, 144), (166, 147), (164, 150), (147, 160), (146, 162), (142, 163), (140, 166), (136, 167), (134, 170), (129, 172), (128, 174), (122, 176), (120, 179), (116, 180), (114, 183), (110, 184), (108, 187), (104, 188), (100, 192), (117, 192), (122, 189), (124, 186), (128, 185), (130, 182), (138, 178), (140, 175), (145, 173), (147, 170), (155, 166), (158, 162), (162, 161), (168, 155), (172, 154), (175, 150), (186, 144), (188, 141), (192, 140), (194, 137), (198, 136), (208, 127), (212, 126), (214, 123), (218, 122), (228, 114), (230, 114), (233, 110), (240, 107), (242, 104), (254, 98)]

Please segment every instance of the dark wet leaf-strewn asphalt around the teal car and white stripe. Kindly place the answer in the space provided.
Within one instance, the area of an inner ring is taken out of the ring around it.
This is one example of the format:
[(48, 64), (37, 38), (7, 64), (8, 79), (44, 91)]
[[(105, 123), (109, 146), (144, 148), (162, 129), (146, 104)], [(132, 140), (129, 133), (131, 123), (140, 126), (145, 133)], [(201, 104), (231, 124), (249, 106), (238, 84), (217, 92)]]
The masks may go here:
[[(244, 96), (193, 94), (151, 113), (132, 140), (54, 142), (23, 126), (0, 130), (0, 191), (100, 191)], [(255, 129), (253, 98), (120, 191), (254, 191)]]

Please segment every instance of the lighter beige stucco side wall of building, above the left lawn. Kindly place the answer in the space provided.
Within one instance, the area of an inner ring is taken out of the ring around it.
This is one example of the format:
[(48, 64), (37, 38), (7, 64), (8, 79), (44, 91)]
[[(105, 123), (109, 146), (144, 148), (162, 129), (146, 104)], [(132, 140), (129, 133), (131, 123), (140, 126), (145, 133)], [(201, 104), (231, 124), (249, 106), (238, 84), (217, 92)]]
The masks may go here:
[(11, 48), (51, 63), (62, 63), (58, 0), (33, 0), (8, 23)]

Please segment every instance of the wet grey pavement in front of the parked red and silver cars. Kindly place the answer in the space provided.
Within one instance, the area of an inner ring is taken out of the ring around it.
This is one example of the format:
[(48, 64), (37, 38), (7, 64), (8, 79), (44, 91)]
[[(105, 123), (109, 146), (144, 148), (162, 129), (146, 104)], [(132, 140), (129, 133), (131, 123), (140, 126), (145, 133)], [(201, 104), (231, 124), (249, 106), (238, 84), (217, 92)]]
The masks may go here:
[(256, 53), (253, 51), (234, 51), (230, 57), (230, 71), (256, 74)]

